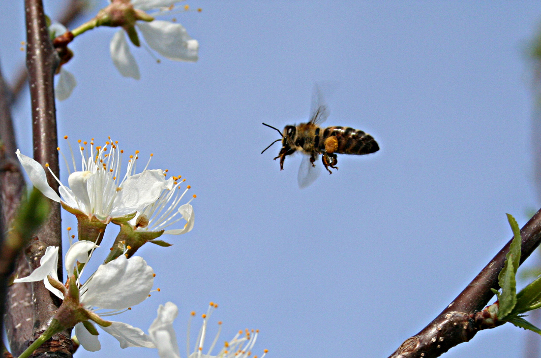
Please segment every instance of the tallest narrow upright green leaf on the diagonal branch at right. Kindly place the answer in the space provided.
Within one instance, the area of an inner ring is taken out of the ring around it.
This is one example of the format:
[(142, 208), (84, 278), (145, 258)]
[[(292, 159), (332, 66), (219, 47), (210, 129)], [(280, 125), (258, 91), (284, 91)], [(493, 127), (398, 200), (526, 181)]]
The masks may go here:
[(507, 214), (507, 220), (513, 230), (513, 240), (509, 246), (509, 252), (505, 256), (505, 265), (498, 275), (498, 284), (502, 288), (502, 292), (498, 296), (498, 319), (503, 320), (509, 316), (515, 305), (517, 304), (517, 275), (518, 266), (520, 265), (520, 246), (522, 246), (522, 237), (517, 221), (511, 214)]

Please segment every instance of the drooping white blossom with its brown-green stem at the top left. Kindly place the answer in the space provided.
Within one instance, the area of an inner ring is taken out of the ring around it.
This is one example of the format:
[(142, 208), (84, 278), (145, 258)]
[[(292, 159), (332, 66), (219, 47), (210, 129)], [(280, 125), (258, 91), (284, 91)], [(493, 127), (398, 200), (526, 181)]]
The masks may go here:
[(109, 51), (113, 64), (124, 77), (136, 80), (141, 78), (128, 43), (129, 40), (135, 47), (141, 47), (140, 35), (146, 43), (143, 47), (147, 48), (148, 45), (148, 48), (169, 60), (196, 62), (199, 58), (199, 42), (190, 37), (176, 19), (174, 22), (156, 19), (175, 10), (188, 11), (188, 5), (178, 10), (175, 8), (175, 4), (180, 1), (182, 0), (110, 0), (109, 5), (101, 9), (96, 17), (72, 31), (59, 23), (52, 24), (49, 32), (55, 39), (53, 44), (61, 57), (61, 67), (58, 70), (60, 76), (55, 87), (56, 98), (61, 101), (67, 99), (77, 84), (75, 76), (62, 66), (73, 56), (67, 47), (68, 43), (76, 36), (99, 26), (120, 28), (111, 38)]

